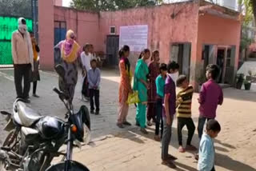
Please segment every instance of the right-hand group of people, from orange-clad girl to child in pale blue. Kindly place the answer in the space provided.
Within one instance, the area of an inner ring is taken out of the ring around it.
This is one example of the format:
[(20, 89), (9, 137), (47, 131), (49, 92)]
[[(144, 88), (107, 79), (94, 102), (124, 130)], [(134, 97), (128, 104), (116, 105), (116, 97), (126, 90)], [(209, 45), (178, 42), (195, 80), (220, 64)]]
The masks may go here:
[[(206, 67), (207, 82), (202, 85), (198, 97), (199, 117), (198, 117), (198, 137), (200, 141), (199, 149), (191, 145), (194, 136), (195, 125), (191, 117), (191, 107), (193, 101), (194, 87), (189, 84), (186, 75), (178, 75), (179, 65), (177, 62), (159, 63), (158, 50), (152, 53), (145, 49), (138, 57), (134, 70), (134, 85), (131, 86), (132, 72), (129, 62), (130, 48), (123, 46), (119, 51), (119, 69), (121, 81), (119, 85), (119, 109), (118, 122), (119, 128), (131, 125), (126, 120), (129, 105), (128, 97), (134, 92), (138, 92), (138, 103), (136, 109), (136, 125), (140, 126), (142, 133), (147, 134), (146, 126), (155, 123), (156, 141), (162, 141), (162, 164), (175, 168), (174, 157), (168, 153), (172, 124), (174, 116), (177, 117), (178, 130), (178, 151), (185, 153), (195, 151), (198, 159), (198, 170), (214, 171), (214, 141), (221, 130), (216, 117), (218, 105), (222, 105), (222, 88), (215, 82), (219, 75), (219, 68), (216, 65)], [(150, 59), (149, 65), (148, 60)], [(176, 93), (176, 87), (180, 88)], [(147, 111), (146, 111), (147, 109)], [(147, 121), (146, 121), (147, 120)], [(206, 131), (203, 133), (205, 122)], [(182, 129), (186, 125), (188, 137), (186, 146), (182, 143)], [(160, 132), (160, 133), (159, 133)]]

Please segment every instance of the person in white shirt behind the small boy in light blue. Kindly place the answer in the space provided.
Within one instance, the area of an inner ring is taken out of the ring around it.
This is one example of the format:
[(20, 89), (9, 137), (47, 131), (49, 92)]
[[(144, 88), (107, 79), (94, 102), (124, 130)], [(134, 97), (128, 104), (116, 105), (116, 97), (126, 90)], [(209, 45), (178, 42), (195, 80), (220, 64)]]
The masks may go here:
[(86, 101), (89, 101), (89, 89), (88, 89), (88, 82), (87, 82), (87, 73), (90, 70), (90, 60), (91, 54), (89, 52), (90, 44), (86, 44), (83, 46), (83, 52), (81, 54), (81, 62), (82, 62), (82, 100), (83, 97), (86, 98)]

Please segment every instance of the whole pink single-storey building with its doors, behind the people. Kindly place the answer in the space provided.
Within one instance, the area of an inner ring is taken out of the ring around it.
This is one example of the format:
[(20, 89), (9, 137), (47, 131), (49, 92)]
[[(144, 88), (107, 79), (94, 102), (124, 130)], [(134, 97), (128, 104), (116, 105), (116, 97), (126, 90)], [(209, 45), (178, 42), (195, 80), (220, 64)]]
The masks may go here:
[[(189, 75), (193, 85), (202, 81), (206, 65), (210, 63), (218, 64), (222, 69), (219, 82), (234, 83), (238, 68), (240, 15), (202, 0), (100, 13), (39, 2), (42, 68), (53, 68), (54, 38), (55, 42), (60, 37), (65, 38), (68, 29), (77, 33), (80, 45), (94, 44), (96, 51), (106, 53), (109, 65), (117, 66), (120, 26), (140, 25), (148, 28), (147, 47), (152, 51), (159, 50), (162, 62), (178, 62), (180, 73)], [(137, 55), (138, 52), (133, 52), (130, 57), (133, 65)]]

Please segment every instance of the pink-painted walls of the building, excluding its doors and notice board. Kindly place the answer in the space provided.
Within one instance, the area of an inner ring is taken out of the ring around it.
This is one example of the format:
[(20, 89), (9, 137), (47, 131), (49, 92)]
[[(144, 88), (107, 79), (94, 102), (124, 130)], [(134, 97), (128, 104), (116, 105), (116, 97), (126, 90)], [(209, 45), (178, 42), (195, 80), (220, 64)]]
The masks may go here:
[[(47, 9), (47, 13), (44, 9)], [(39, 5), (39, 41), (43, 69), (52, 69), (53, 66), (54, 21), (66, 21), (67, 30), (74, 30), (81, 46), (90, 42), (94, 44), (96, 51), (104, 52), (110, 26), (115, 26), (119, 34), (120, 26), (148, 25), (148, 48), (160, 51), (161, 62), (171, 60), (170, 47), (173, 43), (189, 42), (190, 81), (193, 85), (196, 85), (195, 76), (200, 72), (198, 66), (203, 63), (203, 44), (236, 46), (235, 68), (238, 66), (240, 22), (210, 14), (199, 16), (197, 2), (100, 13), (53, 6), (50, 2), (43, 3)], [(130, 61), (134, 66), (138, 54), (132, 54)]]

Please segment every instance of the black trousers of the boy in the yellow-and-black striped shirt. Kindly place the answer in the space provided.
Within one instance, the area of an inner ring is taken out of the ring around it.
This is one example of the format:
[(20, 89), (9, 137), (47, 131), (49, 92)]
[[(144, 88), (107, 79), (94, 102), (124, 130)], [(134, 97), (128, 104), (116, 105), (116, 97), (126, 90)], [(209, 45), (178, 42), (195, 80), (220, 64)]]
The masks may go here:
[(194, 135), (194, 121), (191, 117), (177, 117), (178, 118), (178, 145), (182, 145), (182, 129), (186, 125), (186, 129), (188, 130), (188, 137), (186, 140), (186, 145), (191, 145), (192, 137)]

